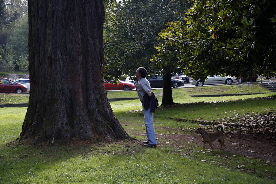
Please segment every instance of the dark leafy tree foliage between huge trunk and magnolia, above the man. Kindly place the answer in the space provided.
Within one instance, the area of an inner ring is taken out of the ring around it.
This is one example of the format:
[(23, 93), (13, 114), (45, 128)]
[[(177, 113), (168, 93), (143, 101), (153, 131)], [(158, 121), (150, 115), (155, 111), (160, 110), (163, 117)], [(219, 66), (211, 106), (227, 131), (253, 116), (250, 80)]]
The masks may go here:
[(158, 33), (167, 21), (176, 21), (187, 9), (186, 0), (127, 0), (106, 6), (104, 24), (105, 79), (133, 76), (138, 67), (149, 73)]

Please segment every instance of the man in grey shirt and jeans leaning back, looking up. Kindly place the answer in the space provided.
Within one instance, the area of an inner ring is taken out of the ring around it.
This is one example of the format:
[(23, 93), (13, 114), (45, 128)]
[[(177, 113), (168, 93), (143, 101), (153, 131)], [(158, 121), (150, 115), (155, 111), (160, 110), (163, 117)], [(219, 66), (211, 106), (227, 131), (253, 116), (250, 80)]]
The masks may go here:
[[(139, 99), (142, 102), (143, 111), (144, 111), (144, 122), (147, 132), (148, 141), (143, 141), (144, 146), (147, 148), (156, 148), (156, 137), (153, 127), (153, 115), (151, 108), (146, 109), (144, 105), (144, 95), (146, 94), (148, 98), (151, 98), (151, 85), (146, 79), (147, 70), (143, 67), (139, 67), (135, 71), (135, 76), (138, 79), (138, 82), (135, 84), (136, 91), (138, 93)], [(153, 95), (154, 97), (154, 95)], [(155, 98), (155, 97), (154, 97)]]

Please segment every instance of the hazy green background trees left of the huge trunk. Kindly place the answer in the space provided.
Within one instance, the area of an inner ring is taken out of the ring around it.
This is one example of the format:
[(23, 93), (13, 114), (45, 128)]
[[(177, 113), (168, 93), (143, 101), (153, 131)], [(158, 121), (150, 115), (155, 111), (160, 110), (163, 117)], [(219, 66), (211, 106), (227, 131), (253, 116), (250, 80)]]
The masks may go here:
[(28, 55), (28, 0), (0, 0), (0, 71), (18, 70)]

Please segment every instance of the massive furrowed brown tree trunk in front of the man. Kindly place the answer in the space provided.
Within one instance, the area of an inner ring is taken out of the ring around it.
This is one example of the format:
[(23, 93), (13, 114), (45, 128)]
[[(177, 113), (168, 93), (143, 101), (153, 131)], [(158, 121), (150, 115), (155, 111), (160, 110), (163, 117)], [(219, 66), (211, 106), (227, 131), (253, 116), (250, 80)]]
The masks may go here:
[(108, 102), (102, 0), (29, 0), (29, 107), (20, 139), (131, 139)]

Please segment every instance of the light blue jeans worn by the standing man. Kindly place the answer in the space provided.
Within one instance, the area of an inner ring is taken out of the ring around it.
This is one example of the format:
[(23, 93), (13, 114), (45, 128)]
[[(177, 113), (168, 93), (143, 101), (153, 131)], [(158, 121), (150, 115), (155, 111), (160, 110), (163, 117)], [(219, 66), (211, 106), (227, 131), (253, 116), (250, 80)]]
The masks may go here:
[(143, 105), (143, 111), (144, 111), (144, 122), (145, 122), (148, 142), (149, 144), (156, 144), (155, 131), (153, 127), (153, 115), (151, 112), (151, 108), (148, 108), (148, 110), (146, 110), (144, 109), (144, 104), (142, 105)]

